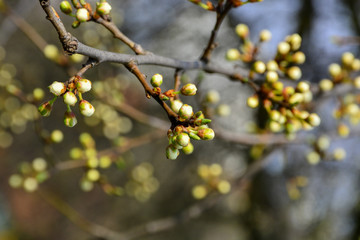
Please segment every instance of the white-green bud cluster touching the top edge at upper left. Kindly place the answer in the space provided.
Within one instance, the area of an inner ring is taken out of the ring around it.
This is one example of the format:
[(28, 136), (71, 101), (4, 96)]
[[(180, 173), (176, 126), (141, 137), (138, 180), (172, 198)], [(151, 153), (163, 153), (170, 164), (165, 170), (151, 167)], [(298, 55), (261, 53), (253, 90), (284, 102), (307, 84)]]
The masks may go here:
[(75, 21), (72, 26), (78, 27), (80, 23), (90, 21), (92, 18), (99, 16), (107, 16), (111, 12), (111, 5), (106, 0), (100, 0), (96, 3), (96, 11), (93, 13), (89, 3), (85, 0), (72, 0), (72, 5), (76, 9), (76, 13), (73, 14), (73, 8), (68, 1), (62, 1), (60, 3), (60, 10), (66, 15), (75, 17)]

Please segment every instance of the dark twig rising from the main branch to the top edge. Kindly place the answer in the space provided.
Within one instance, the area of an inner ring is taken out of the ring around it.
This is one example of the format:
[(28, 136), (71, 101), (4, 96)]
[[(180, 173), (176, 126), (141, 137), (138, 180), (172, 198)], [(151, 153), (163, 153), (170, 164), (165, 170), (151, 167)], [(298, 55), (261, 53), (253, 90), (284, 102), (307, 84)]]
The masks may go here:
[(224, 9), (222, 9), (221, 12), (217, 14), (216, 23), (213, 30), (211, 31), (210, 39), (208, 41), (206, 48), (204, 49), (203, 54), (200, 57), (201, 61), (209, 62), (211, 53), (216, 48), (215, 39), (220, 29), (220, 26), (231, 8), (232, 8), (232, 3), (228, 1), (225, 4)]

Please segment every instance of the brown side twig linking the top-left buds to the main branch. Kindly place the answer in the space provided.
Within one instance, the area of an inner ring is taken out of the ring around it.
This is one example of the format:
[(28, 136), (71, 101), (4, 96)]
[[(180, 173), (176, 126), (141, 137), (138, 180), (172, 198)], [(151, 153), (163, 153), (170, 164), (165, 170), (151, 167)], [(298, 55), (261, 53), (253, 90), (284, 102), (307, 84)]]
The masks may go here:
[(106, 21), (105, 19), (99, 17), (95, 20), (95, 22), (103, 25), (107, 28), (115, 38), (124, 42), (127, 46), (129, 46), (136, 54), (145, 55), (150, 54), (150, 52), (145, 51), (140, 44), (135, 43), (130, 38), (128, 38), (125, 34), (123, 34), (120, 29), (111, 21)]

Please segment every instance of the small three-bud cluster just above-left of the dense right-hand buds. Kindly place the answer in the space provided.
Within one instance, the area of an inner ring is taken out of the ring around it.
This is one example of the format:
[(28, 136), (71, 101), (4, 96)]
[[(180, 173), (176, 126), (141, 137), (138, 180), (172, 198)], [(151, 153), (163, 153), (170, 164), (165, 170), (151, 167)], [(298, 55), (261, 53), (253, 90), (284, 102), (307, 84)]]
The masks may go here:
[(239, 48), (231, 48), (226, 52), (226, 59), (229, 61), (241, 60), (250, 63), (258, 52), (259, 44), (271, 40), (271, 32), (264, 29), (260, 32), (257, 42), (253, 43), (250, 40), (249, 27), (242, 23), (235, 27), (235, 32), (241, 40), (241, 45)]

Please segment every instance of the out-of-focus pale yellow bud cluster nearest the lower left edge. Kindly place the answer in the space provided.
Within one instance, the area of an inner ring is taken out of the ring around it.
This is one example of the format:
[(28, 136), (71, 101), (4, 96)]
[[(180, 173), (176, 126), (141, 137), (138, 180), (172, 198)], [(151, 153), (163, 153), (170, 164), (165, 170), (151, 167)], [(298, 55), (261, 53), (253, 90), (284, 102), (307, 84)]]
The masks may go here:
[(36, 191), (39, 184), (49, 177), (47, 162), (43, 158), (35, 158), (31, 164), (23, 162), (19, 169), (20, 173), (10, 176), (9, 184), (13, 188), (22, 187), (27, 192)]

